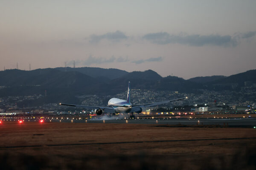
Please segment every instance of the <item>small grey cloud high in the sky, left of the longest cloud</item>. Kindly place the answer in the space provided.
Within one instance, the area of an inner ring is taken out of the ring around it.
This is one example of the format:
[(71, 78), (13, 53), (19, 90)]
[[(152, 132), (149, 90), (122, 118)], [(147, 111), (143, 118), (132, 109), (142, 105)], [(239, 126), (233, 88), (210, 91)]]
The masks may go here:
[(90, 36), (90, 43), (98, 43), (102, 39), (109, 40), (109, 41), (120, 41), (127, 38), (128, 37), (121, 31), (109, 32), (102, 35), (93, 34)]

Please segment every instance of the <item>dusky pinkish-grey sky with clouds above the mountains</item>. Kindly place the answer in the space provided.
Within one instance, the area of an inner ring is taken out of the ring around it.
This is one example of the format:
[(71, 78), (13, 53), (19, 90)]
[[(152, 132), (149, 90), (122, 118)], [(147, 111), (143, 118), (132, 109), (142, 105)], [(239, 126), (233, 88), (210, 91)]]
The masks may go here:
[(0, 0), (0, 70), (100, 67), (189, 79), (256, 69), (255, 0)]

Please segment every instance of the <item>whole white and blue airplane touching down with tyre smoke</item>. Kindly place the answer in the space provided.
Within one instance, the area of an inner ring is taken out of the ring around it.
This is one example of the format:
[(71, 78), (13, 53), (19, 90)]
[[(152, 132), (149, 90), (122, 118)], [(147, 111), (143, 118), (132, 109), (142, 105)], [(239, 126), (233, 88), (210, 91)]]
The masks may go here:
[(98, 116), (101, 115), (102, 113), (110, 113), (110, 116), (111, 116), (111, 113), (113, 115), (115, 115), (116, 113), (131, 113), (130, 117), (135, 119), (134, 113), (141, 113), (143, 108), (149, 108), (152, 106), (162, 105), (162, 104), (166, 104), (169, 102), (182, 100), (182, 99), (187, 99), (187, 97), (183, 97), (180, 99), (166, 100), (162, 102), (132, 105), (130, 102), (130, 82), (128, 82), (128, 91), (127, 91), (126, 100), (112, 98), (108, 101), (107, 106), (84, 106), (84, 105), (71, 105), (71, 104), (64, 104), (64, 103), (60, 103), (60, 105), (92, 109), (94, 110), (94, 113)]

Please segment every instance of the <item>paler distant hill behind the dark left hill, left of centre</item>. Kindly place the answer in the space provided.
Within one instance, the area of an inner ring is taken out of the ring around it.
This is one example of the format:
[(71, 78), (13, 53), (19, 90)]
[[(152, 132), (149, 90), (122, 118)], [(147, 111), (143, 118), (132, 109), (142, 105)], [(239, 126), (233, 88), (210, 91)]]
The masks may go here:
[[(82, 74), (86, 74), (90, 77), (93, 78), (100, 78), (100, 77), (105, 77), (107, 79), (116, 79), (119, 77), (122, 77), (126, 74), (128, 74), (127, 71), (119, 70), (116, 68), (97, 68), (97, 67), (79, 67), (79, 68), (71, 68), (71, 67), (57, 67), (55, 68), (56, 70), (60, 71), (77, 71)], [(104, 79), (105, 81), (106, 79)]]

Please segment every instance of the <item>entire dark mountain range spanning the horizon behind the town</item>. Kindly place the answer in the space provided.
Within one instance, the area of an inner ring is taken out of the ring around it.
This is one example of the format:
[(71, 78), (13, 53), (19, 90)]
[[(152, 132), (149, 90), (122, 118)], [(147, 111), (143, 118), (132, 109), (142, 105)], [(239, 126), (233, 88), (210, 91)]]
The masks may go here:
[(45, 94), (47, 102), (79, 102), (76, 96), (85, 94), (114, 95), (132, 89), (151, 91), (182, 91), (196, 93), (198, 89), (237, 90), (244, 82), (256, 83), (256, 70), (232, 76), (211, 76), (183, 79), (161, 77), (152, 70), (127, 72), (105, 68), (44, 68), (32, 71), (0, 71), (0, 97)]

